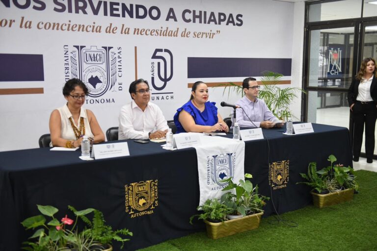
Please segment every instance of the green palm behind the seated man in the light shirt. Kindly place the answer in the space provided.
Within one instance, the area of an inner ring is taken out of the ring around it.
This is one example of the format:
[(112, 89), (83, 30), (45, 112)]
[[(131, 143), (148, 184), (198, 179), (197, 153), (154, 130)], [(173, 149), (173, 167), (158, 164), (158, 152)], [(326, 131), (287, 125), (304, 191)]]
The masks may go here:
[[(270, 71), (262, 72), (261, 84), (263, 88), (259, 91), (259, 98), (264, 100), (269, 107), (269, 110), (275, 117), (280, 120), (288, 120), (288, 118), (294, 118), (289, 105), (297, 97), (296, 92), (300, 91), (305, 93), (304, 90), (297, 87), (280, 88), (279, 82), (282, 81), (283, 75), (280, 73), (274, 73)], [(227, 84), (219, 84), (216, 87), (224, 87), (223, 95), (228, 89), (228, 97), (231, 92), (236, 93), (237, 96), (243, 97), (244, 92), (242, 84), (237, 85), (233, 82)], [(232, 116), (231, 116), (232, 117)]]

